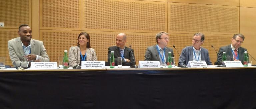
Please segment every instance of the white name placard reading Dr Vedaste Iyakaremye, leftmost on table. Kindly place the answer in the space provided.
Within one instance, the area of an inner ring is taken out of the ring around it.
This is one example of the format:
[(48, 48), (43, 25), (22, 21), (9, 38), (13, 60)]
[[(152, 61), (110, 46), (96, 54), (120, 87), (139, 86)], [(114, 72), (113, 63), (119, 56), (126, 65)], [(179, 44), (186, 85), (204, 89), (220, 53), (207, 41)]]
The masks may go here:
[(30, 69), (57, 69), (57, 62), (31, 62)]

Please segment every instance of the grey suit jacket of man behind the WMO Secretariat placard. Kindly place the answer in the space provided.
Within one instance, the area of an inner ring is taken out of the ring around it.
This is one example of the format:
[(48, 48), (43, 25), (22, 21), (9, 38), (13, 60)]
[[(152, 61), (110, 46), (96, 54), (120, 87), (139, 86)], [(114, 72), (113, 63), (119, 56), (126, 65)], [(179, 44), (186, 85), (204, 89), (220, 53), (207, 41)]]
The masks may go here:
[[(171, 49), (169, 47), (165, 47), (166, 62), (168, 60), (168, 52), (169, 51), (172, 52), (172, 57), (174, 57), (173, 49)], [(145, 57), (145, 59), (144, 59), (145, 61), (160, 61), (159, 53), (158, 53), (158, 49), (156, 48), (156, 45), (148, 47), (144, 57)]]

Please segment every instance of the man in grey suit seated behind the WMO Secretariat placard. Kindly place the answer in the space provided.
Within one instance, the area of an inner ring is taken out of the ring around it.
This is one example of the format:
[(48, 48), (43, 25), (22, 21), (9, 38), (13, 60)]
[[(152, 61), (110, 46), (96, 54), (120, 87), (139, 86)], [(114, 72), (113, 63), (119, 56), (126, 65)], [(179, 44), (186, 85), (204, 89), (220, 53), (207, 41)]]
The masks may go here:
[(156, 45), (147, 48), (145, 53), (145, 61), (160, 61), (160, 64), (165, 66), (166, 60), (168, 60), (168, 52), (172, 52), (173, 49), (167, 47), (169, 42), (169, 36), (166, 32), (159, 32), (156, 34)]

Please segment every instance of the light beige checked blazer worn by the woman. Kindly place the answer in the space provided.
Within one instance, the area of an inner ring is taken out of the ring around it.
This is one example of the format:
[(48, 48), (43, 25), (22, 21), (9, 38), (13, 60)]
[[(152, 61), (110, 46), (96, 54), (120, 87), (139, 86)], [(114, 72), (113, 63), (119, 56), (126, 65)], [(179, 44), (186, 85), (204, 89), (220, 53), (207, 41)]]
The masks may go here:
[[(70, 47), (68, 54), (69, 66), (76, 66), (76, 63), (80, 64), (80, 48), (77, 46)], [(78, 53), (78, 55), (77, 55)], [(86, 61), (97, 61), (96, 52), (93, 48), (86, 48)]]

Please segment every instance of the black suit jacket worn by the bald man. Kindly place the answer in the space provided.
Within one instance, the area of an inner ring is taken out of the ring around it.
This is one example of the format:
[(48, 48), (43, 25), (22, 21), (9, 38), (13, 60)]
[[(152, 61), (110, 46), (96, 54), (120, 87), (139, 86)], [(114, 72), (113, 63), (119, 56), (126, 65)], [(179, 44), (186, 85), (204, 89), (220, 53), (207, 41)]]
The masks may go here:
[[(119, 50), (119, 47), (117, 46), (112, 46), (108, 48), (108, 64), (109, 65), (109, 60), (110, 60), (110, 56), (111, 56), (111, 51), (114, 51), (114, 57), (115, 57), (115, 66), (117, 66), (117, 57), (121, 57), (121, 53)], [(132, 51), (132, 52), (131, 52)], [(129, 59), (130, 62), (124, 62), (124, 59), (122, 59), (122, 65), (123, 66), (132, 66), (135, 64), (135, 56), (134, 56), (134, 51), (131, 48), (125, 47), (124, 48), (124, 58), (125, 59)]]

